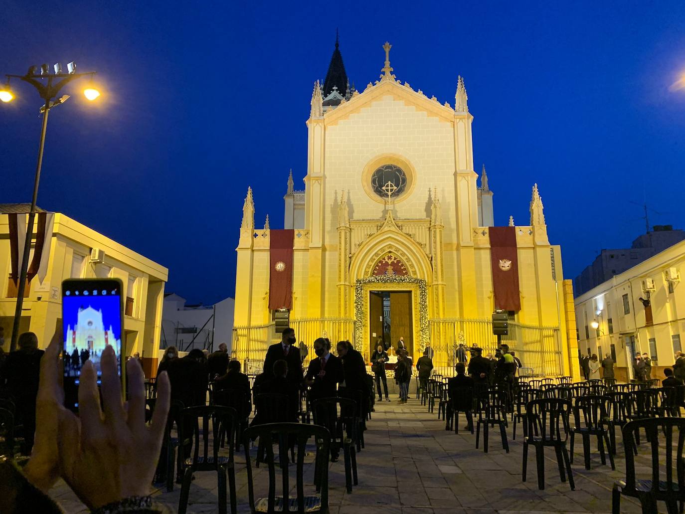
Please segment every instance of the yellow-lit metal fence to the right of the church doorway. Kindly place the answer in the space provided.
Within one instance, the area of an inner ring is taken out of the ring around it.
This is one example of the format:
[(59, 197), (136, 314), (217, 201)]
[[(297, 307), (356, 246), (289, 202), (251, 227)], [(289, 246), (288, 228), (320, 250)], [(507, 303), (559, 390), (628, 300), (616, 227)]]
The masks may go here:
[[(558, 327), (536, 327), (509, 322), (509, 334), (501, 342), (516, 352), (525, 371), (534, 376), (558, 376), (563, 374), (562, 345)], [(493, 335), (493, 323), (488, 319), (432, 319), (429, 320), (430, 345), (434, 350), (433, 363), (436, 373), (454, 374), (456, 350), (478, 346), (483, 356), (495, 355), (497, 336)], [(467, 354), (468, 356), (468, 354)]]

